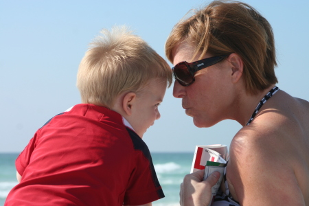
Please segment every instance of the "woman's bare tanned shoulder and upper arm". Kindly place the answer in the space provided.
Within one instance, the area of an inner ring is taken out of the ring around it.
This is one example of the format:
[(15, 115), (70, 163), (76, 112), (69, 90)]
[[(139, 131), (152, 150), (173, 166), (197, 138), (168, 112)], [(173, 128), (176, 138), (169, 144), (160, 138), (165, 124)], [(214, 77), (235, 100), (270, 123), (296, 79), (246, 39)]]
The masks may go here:
[(280, 140), (277, 131), (269, 128), (261, 128), (255, 122), (242, 128), (231, 142), (227, 181), (233, 185), (233, 195), (241, 205), (250, 205), (257, 196), (258, 205), (297, 205), (304, 201), (291, 161), (284, 152), (295, 155), (287, 151), (290, 149), (286, 137)]

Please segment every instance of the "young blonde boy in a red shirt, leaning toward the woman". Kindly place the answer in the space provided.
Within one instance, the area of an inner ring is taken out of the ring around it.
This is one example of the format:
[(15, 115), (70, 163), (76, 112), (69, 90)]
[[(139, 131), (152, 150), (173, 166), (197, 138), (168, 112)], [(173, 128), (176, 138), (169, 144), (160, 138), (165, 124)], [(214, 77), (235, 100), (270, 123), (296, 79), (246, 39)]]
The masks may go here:
[(20, 183), (5, 205), (151, 205), (164, 194), (141, 139), (172, 82), (169, 65), (126, 27), (86, 52), (83, 104), (50, 119), (16, 159)]

